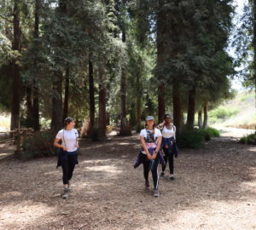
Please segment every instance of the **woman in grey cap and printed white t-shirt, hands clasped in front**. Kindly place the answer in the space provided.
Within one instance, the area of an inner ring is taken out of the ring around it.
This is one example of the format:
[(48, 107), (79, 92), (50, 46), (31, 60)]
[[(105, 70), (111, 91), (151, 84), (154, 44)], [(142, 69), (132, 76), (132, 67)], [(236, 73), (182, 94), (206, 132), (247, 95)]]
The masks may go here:
[(160, 129), (154, 128), (154, 117), (148, 116), (146, 118), (146, 129), (142, 129), (140, 133), (140, 141), (143, 147), (143, 154), (146, 154), (146, 159), (143, 160), (143, 170), (145, 178), (145, 186), (149, 188), (148, 174), (149, 170), (152, 171), (152, 177), (154, 181), (154, 197), (159, 197), (157, 167), (160, 163), (160, 145), (162, 141), (162, 135)]

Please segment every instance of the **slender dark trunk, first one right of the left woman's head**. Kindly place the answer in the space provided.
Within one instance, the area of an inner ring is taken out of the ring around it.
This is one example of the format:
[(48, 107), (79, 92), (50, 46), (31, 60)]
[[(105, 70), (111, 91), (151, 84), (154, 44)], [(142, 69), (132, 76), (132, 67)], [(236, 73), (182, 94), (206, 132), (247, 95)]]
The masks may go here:
[(95, 96), (94, 96), (94, 79), (93, 79), (93, 64), (90, 59), (91, 54), (89, 55), (89, 108), (90, 108), (90, 124), (88, 135), (90, 136), (91, 129), (95, 126)]

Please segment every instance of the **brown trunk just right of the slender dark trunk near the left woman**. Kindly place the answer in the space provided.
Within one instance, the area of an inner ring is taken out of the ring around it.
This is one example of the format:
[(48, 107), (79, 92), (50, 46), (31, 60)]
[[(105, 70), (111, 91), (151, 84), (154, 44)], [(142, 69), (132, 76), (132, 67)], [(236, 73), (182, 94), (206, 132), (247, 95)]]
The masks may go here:
[(107, 113), (106, 113), (106, 74), (101, 68), (99, 71), (99, 124), (98, 135), (101, 140), (107, 138)]

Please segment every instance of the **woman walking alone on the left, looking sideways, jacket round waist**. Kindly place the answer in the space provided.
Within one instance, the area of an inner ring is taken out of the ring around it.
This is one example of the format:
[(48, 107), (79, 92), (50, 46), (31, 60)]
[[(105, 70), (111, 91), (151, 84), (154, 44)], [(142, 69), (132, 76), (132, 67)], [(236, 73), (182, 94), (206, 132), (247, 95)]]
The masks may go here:
[[(64, 129), (61, 129), (55, 137), (54, 146), (59, 148), (57, 167), (62, 168), (62, 181), (64, 185), (64, 193), (62, 198), (68, 198), (68, 192), (71, 191), (70, 180), (73, 175), (75, 164), (78, 163), (78, 131), (73, 129), (75, 122), (73, 118), (66, 118), (64, 121)], [(60, 144), (61, 141), (61, 144)]]

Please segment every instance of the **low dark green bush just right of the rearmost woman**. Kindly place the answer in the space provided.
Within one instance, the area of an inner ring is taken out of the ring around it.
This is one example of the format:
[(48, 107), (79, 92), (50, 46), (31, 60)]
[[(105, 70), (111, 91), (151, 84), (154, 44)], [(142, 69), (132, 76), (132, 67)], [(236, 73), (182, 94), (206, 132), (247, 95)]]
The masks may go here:
[(183, 129), (177, 136), (177, 147), (181, 148), (199, 148), (205, 141), (205, 134), (202, 129)]

